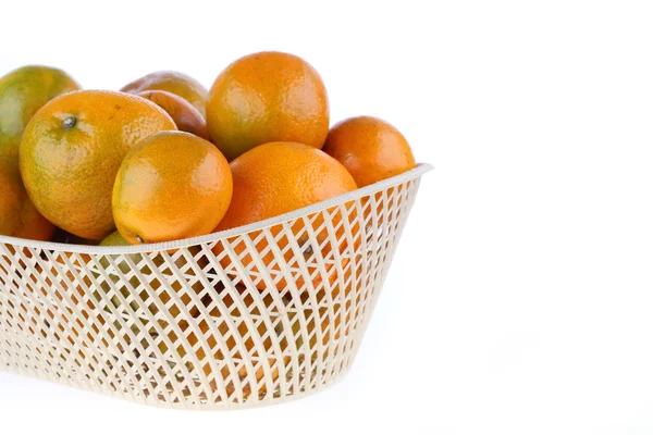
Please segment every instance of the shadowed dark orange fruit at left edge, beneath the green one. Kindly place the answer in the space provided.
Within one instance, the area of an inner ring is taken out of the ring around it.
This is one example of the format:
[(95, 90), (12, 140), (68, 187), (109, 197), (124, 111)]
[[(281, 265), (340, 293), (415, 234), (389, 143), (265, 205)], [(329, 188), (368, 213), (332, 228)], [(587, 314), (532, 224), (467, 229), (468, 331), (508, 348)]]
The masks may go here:
[(49, 240), (54, 229), (29, 200), (19, 161), (0, 156), (0, 235)]

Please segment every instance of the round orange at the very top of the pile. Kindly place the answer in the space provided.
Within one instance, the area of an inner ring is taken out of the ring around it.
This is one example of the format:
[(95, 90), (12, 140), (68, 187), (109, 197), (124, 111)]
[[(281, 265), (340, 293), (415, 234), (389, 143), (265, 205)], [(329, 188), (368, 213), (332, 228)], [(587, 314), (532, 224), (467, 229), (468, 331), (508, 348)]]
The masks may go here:
[(213, 83), (207, 123), (229, 160), (271, 141), (322, 148), (329, 133), (326, 89), (318, 72), (296, 55), (250, 54)]

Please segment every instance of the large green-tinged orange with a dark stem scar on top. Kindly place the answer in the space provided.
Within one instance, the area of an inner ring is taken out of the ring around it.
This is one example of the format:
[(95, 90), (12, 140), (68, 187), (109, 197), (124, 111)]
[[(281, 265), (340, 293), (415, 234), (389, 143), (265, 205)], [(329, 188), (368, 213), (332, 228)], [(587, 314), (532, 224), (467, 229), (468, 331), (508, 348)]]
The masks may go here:
[(81, 90), (50, 101), (21, 144), (21, 173), (36, 208), (54, 225), (99, 240), (114, 226), (111, 191), (127, 151), (175, 129), (158, 105), (135, 96)]

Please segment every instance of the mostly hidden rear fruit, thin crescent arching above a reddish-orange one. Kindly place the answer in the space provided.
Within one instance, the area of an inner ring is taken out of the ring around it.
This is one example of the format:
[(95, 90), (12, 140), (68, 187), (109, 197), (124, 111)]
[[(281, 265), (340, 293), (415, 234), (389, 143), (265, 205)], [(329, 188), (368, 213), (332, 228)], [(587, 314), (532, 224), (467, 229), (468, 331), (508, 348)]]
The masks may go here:
[(206, 116), (208, 90), (195, 78), (174, 71), (148, 74), (124, 86), (123, 92), (139, 94), (144, 90), (165, 90), (188, 101)]

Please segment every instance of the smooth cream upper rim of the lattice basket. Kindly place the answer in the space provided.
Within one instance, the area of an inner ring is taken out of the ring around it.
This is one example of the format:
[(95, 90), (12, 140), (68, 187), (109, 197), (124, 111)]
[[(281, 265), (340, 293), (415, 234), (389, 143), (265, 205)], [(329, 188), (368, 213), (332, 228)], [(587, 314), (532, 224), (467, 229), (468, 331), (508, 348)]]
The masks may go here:
[(310, 204), (303, 209), (294, 210), (288, 213), (280, 214), (274, 217), (267, 219), (264, 221), (254, 222), (251, 224), (237, 226), (234, 228), (221, 231), (218, 233), (211, 233), (204, 236), (185, 238), (181, 240), (173, 241), (163, 241), (157, 244), (144, 244), (144, 245), (133, 245), (133, 246), (93, 246), (93, 245), (67, 245), (60, 244), (54, 241), (39, 241), (39, 240), (30, 240), (17, 237), (2, 236), (0, 235), (0, 244), (12, 245), (22, 248), (35, 248), (35, 249), (48, 249), (52, 251), (62, 251), (62, 252), (75, 252), (75, 253), (86, 253), (89, 256), (95, 254), (132, 254), (132, 253), (145, 253), (145, 252), (157, 252), (172, 249), (183, 249), (192, 246), (197, 246), (201, 244), (212, 243), (222, 240), (230, 237), (235, 237), (242, 234), (247, 234), (258, 229), (269, 228), (271, 226), (288, 222), (300, 217), (306, 214), (311, 214), (324, 209), (329, 209), (334, 206), (340, 206), (342, 203), (355, 200), (357, 198), (369, 196), (375, 194), (381, 190), (385, 190), (390, 187), (399, 185), (402, 183), (416, 179), (421, 177), (427, 172), (433, 170), (433, 166), (429, 163), (418, 163), (418, 165), (407, 172), (404, 172), (399, 175), (395, 175), (391, 178), (386, 178), (374, 183), (372, 185), (358, 188), (356, 190), (349, 191), (347, 194), (340, 195), (337, 197), (328, 199), (325, 201), (317, 202), (315, 204)]

